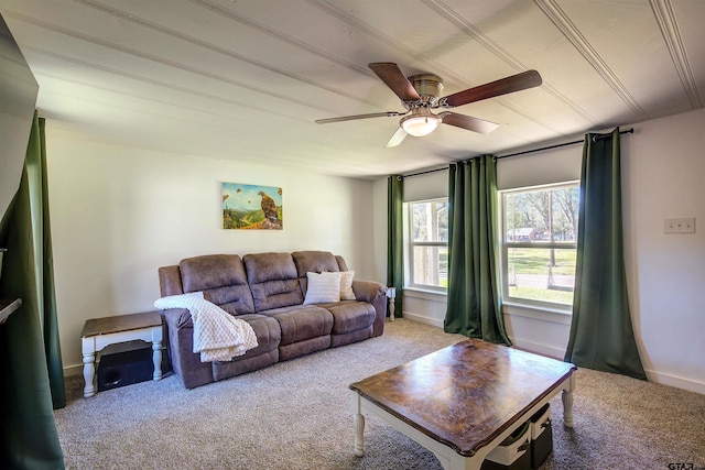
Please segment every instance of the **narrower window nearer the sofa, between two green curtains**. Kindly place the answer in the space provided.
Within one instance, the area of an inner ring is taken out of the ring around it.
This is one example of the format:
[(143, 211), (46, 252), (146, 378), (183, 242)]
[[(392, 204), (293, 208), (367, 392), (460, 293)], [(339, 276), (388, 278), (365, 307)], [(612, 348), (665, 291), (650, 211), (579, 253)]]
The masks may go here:
[(448, 200), (409, 203), (410, 285), (448, 285)]

